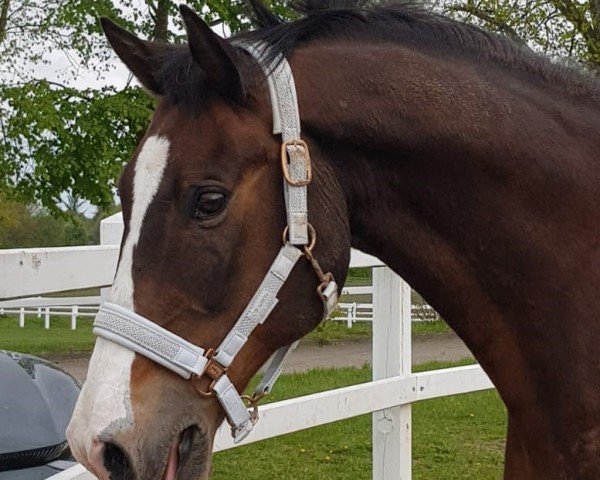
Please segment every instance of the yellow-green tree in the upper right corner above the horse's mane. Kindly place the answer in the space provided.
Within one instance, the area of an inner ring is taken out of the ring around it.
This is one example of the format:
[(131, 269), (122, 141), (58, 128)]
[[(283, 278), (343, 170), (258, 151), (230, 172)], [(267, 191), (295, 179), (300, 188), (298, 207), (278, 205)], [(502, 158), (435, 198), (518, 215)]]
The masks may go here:
[(600, 69), (600, 0), (438, 0), (436, 5), (536, 51)]

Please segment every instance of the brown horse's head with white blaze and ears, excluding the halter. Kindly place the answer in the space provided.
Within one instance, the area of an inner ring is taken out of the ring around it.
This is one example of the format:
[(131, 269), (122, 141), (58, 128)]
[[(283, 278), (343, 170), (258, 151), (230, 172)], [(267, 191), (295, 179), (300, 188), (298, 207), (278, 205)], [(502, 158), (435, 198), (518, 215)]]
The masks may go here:
[[(157, 99), (119, 182), (125, 231), (109, 302), (201, 346), (208, 362), (286, 243), (281, 138), (272, 131), (256, 59), (191, 10), (182, 15), (184, 47), (103, 22), (119, 57)], [(345, 198), (320, 152), (311, 153), (314, 249), (300, 254), (343, 279), (350, 252)], [(314, 267), (295, 264), (278, 303), (228, 366), (238, 392), (276, 350), (322, 319)], [(101, 336), (68, 429), (75, 457), (101, 479), (207, 478), (225, 417), (211, 382), (202, 374), (190, 382)]]

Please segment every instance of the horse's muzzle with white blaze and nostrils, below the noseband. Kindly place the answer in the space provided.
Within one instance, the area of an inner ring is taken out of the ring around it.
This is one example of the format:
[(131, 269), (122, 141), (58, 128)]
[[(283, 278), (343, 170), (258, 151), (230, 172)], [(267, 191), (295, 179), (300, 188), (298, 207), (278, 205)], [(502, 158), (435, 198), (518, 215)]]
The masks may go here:
[(67, 439), (100, 480), (204, 480), (222, 419), (190, 382), (98, 339)]

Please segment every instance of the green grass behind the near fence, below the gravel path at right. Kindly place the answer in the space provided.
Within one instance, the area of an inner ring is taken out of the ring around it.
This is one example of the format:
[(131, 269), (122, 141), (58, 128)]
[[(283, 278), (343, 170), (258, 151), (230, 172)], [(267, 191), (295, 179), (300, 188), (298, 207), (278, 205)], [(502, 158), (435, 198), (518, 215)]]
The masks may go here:
[[(415, 370), (455, 365), (435, 362)], [(270, 400), (361, 383), (370, 376), (367, 367), (284, 375)], [(501, 478), (505, 431), (506, 414), (495, 391), (415, 404), (413, 478)], [(365, 415), (217, 453), (212, 478), (238, 478), (244, 472), (246, 480), (366, 480), (371, 468), (371, 416)]]

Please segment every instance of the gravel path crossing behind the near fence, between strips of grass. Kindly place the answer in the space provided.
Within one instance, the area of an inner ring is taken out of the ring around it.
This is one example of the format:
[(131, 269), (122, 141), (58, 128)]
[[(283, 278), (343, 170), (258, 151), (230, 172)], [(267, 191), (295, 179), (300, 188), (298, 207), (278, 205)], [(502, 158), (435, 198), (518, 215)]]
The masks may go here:
[[(413, 338), (413, 365), (431, 361), (458, 361), (472, 357), (454, 333), (420, 335)], [(85, 380), (88, 356), (54, 357), (53, 362), (79, 380)], [(343, 342), (321, 347), (300, 344), (287, 360), (284, 372), (303, 372), (313, 368), (361, 367), (371, 363), (371, 341)]]

